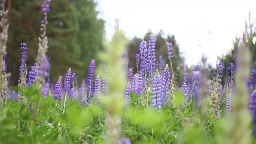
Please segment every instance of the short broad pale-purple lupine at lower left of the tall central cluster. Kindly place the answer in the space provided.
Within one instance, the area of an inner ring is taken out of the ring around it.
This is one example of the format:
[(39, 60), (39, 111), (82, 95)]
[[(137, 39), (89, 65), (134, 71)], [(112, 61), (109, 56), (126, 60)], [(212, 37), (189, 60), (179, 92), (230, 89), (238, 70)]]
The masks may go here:
[(134, 94), (138, 96), (144, 93), (142, 77), (139, 74), (135, 74), (133, 77), (132, 91), (134, 91)]

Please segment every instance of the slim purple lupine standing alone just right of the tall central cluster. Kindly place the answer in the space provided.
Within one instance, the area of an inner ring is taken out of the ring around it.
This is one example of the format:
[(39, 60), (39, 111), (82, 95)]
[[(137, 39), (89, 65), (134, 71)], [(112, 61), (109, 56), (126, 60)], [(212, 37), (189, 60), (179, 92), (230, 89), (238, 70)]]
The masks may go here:
[(182, 86), (181, 86), (181, 92), (184, 94), (185, 96), (185, 103), (184, 103), (184, 107), (186, 107), (188, 101), (189, 101), (189, 88), (188, 88), (188, 73), (187, 73), (187, 67), (185, 66), (183, 68), (183, 82), (182, 82)]

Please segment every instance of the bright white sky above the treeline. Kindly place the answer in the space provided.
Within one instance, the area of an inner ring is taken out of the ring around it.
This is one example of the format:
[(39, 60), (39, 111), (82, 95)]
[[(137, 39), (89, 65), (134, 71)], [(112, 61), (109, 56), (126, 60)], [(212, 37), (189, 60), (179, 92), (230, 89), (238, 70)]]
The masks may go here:
[(115, 19), (132, 39), (149, 29), (173, 34), (188, 66), (202, 54), (215, 66), (217, 56), (232, 48), (241, 35), (248, 13), (256, 19), (256, 0), (96, 0), (100, 17), (106, 21), (107, 38), (114, 32)]

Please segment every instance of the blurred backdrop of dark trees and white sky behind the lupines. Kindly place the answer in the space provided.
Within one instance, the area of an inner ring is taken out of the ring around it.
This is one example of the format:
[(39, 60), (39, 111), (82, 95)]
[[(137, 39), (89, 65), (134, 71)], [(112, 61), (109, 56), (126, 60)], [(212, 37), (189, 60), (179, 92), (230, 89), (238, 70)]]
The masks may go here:
[[(7, 67), (16, 85), (21, 64), (20, 43), (28, 45), (28, 67), (35, 63), (40, 36), (42, 0), (7, 0), (10, 28)], [(115, 20), (129, 38), (129, 67), (136, 67), (139, 43), (155, 35), (157, 59), (167, 60), (166, 42), (173, 43), (173, 67), (179, 85), (183, 67), (200, 69), (200, 58), (208, 68), (217, 60), (235, 62), (239, 36), (246, 31), (253, 60), (256, 59), (256, 0), (52, 0), (48, 13), (48, 56), (51, 80), (56, 82), (69, 67), (78, 80), (87, 77), (91, 59), (110, 40)], [(187, 65), (186, 65), (187, 64)], [(252, 64), (253, 65), (253, 64)], [(136, 72), (136, 69), (133, 69)]]

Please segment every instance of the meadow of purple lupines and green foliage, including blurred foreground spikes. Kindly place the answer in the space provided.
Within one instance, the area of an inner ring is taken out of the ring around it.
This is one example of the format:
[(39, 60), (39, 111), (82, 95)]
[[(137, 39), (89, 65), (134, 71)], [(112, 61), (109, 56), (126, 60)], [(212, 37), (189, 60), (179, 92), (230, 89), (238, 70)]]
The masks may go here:
[[(5, 0), (1, 1), (5, 3)], [(27, 66), (20, 44), (18, 85), (9, 83), (6, 43), (8, 11), (0, 27), (0, 144), (255, 144), (256, 63), (251, 69), (246, 35), (235, 63), (217, 63), (211, 72), (202, 56), (200, 69), (183, 68), (182, 85), (173, 67), (173, 43), (156, 56), (156, 37), (140, 41), (136, 66), (129, 67), (128, 39), (115, 27), (112, 40), (91, 59), (79, 80), (72, 69), (52, 81), (47, 26), (51, 0), (43, 0), (37, 57)], [(61, 53), (57, 53), (61, 55)], [(63, 63), (65, 61), (62, 61)], [(79, 83), (81, 81), (81, 83)]]

